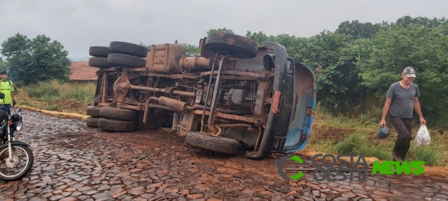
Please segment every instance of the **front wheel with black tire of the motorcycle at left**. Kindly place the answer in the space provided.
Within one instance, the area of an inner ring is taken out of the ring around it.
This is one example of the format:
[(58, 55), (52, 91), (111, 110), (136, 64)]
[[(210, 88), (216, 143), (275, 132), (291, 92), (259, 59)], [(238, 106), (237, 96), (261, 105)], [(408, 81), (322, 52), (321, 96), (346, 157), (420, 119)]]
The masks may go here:
[(25, 176), (32, 167), (34, 156), (26, 145), (12, 145), (12, 161), (9, 160), (8, 147), (0, 149), (0, 179), (17, 180)]

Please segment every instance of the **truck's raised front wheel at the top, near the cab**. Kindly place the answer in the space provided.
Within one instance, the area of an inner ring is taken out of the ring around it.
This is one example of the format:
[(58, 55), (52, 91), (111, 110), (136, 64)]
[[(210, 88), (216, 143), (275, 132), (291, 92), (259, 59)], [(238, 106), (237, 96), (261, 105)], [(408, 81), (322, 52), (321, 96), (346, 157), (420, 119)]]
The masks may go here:
[(208, 34), (205, 47), (219, 54), (230, 54), (236, 59), (252, 59), (258, 52), (258, 45), (254, 40), (222, 32)]

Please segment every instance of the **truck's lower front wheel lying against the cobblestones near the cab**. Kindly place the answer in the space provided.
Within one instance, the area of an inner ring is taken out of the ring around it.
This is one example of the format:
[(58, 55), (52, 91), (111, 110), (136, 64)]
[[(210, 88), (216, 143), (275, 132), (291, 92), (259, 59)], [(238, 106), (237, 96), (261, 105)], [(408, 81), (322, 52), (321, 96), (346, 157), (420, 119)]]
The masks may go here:
[(238, 154), (240, 143), (238, 140), (221, 136), (207, 136), (198, 132), (188, 132), (185, 135), (185, 144), (205, 151), (220, 154)]

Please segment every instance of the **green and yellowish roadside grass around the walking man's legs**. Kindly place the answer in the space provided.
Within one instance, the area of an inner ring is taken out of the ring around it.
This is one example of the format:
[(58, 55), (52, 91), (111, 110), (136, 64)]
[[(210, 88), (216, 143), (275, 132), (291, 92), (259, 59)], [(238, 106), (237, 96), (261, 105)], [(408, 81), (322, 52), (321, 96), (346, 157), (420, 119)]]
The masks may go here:
[[(391, 134), (385, 139), (376, 136), (379, 129), (381, 109), (358, 118), (332, 116), (318, 107), (312, 135), (307, 148), (332, 154), (363, 154), (380, 160), (391, 160), (391, 150), (396, 140), (396, 131), (389, 122)], [(448, 134), (439, 134), (429, 129), (431, 142), (427, 146), (414, 147), (414, 138), (419, 123), (414, 122), (413, 140), (405, 160), (423, 160), (428, 166), (445, 166), (448, 158)]]

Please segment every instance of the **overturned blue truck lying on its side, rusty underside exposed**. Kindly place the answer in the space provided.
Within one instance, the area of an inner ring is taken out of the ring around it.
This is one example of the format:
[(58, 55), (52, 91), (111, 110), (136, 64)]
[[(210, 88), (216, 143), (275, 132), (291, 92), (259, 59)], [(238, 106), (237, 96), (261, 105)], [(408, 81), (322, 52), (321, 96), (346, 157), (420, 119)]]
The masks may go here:
[(312, 70), (278, 43), (215, 32), (200, 54), (167, 43), (90, 47), (99, 67), (86, 124), (108, 131), (169, 127), (196, 149), (247, 158), (305, 147), (316, 107)]

